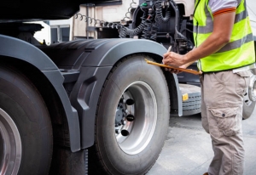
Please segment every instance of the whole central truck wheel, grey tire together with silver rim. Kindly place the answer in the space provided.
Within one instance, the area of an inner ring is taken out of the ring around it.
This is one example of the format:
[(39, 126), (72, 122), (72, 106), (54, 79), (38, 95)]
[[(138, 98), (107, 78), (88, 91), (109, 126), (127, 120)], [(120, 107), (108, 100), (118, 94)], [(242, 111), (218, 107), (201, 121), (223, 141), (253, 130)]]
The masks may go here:
[(144, 58), (123, 59), (108, 75), (96, 114), (96, 158), (104, 173), (89, 164), (89, 174), (145, 174), (160, 155), (170, 99), (160, 67), (148, 65)]

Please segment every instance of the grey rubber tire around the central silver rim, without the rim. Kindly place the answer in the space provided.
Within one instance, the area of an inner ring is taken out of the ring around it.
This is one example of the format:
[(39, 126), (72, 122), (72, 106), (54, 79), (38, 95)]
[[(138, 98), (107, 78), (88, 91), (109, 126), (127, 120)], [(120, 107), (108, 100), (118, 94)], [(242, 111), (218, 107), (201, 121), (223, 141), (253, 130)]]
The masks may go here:
[[(145, 57), (132, 55), (123, 59), (108, 75), (97, 108), (94, 148), (96, 159), (100, 161), (104, 173), (100, 167), (92, 168), (89, 164), (89, 174), (145, 174), (160, 155), (169, 127), (170, 99), (163, 71), (158, 66), (148, 65)], [(157, 122), (148, 146), (136, 155), (129, 155), (117, 144), (113, 121), (122, 92), (129, 84), (137, 81), (148, 83), (154, 91), (157, 101)], [(93, 159), (92, 164), (95, 164), (95, 159), (90, 155), (93, 150), (89, 152), (89, 161)]]

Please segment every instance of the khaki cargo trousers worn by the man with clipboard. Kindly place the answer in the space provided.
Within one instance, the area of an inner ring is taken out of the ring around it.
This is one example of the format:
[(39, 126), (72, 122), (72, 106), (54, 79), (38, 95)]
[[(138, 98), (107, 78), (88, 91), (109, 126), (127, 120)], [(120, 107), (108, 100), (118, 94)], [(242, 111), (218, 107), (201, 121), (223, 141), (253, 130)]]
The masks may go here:
[(214, 152), (210, 175), (243, 174), (242, 105), (251, 75), (251, 71), (221, 71), (201, 76), (202, 127), (210, 133)]

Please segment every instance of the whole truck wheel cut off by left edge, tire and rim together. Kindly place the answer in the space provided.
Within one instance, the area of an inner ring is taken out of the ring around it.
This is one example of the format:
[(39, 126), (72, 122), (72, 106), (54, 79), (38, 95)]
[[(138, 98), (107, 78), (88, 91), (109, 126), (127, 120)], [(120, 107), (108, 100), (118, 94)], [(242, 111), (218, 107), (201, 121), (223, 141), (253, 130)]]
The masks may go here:
[(52, 144), (37, 89), (20, 72), (0, 66), (0, 174), (48, 174)]

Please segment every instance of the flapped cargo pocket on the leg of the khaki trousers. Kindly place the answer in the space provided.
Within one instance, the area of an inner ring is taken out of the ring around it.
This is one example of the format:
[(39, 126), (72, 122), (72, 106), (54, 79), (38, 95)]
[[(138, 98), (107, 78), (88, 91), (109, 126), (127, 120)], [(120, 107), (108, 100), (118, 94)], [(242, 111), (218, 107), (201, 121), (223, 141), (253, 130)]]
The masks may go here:
[(241, 115), (239, 107), (209, 108), (212, 117), (217, 121), (218, 131), (225, 136), (233, 136), (241, 133)]

